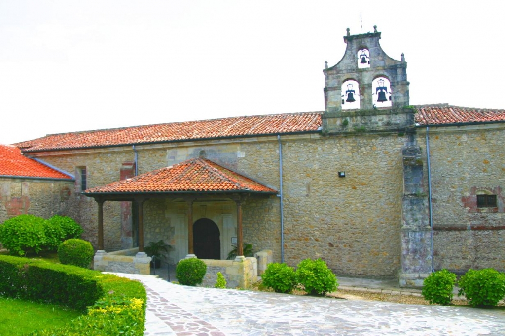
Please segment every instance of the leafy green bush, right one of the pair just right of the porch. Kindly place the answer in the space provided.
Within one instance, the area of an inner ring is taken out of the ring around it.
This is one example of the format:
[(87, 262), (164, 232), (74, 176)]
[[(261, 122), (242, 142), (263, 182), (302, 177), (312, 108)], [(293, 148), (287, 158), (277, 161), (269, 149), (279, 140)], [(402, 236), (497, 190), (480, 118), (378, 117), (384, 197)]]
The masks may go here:
[(324, 295), (337, 290), (337, 277), (323, 260), (305, 259), (296, 268), (296, 279), (311, 295)]

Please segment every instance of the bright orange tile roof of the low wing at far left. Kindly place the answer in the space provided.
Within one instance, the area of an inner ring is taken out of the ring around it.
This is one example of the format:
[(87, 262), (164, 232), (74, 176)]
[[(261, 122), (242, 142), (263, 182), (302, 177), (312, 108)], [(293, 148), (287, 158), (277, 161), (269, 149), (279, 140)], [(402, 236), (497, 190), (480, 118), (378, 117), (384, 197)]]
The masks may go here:
[(21, 154), (19, 148), (12, 145), (0, 145), (0, 175), (72, 179), (66, 174), (27, 158)]

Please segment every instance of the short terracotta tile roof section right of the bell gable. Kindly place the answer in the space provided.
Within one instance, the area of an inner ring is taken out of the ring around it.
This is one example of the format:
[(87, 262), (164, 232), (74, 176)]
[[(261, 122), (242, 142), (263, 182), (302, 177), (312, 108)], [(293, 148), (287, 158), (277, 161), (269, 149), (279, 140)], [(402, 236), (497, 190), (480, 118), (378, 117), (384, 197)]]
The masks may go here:
[(465, 122), (505, 121), (505, 110), (452, 106), (449, 104), (415, 105), (416, 123), (443, 125)]

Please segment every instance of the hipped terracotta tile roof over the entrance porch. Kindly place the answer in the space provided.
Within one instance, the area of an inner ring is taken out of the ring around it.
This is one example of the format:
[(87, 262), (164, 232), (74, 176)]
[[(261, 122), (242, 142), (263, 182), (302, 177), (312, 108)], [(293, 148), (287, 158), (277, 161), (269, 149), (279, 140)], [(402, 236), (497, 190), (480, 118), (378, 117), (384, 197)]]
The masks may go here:
[(206, 158), (190, 159), (179, 164), (86, 190), (85, 194), (138, 192), (222, 192), (251, 191), (276, 193)]

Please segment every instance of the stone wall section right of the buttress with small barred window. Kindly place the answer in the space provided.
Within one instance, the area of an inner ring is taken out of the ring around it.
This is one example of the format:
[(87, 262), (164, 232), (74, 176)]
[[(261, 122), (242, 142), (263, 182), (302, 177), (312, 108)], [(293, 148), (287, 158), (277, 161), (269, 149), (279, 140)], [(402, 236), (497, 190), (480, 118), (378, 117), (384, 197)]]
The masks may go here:
[[(419, 129), (419, 144), (425, 136)], [(504, 271), (505, 126), (430, 127), (429, 144), (435, 270)], [(479, 190), (497, 194), (498, 207), (476, 208)]]

